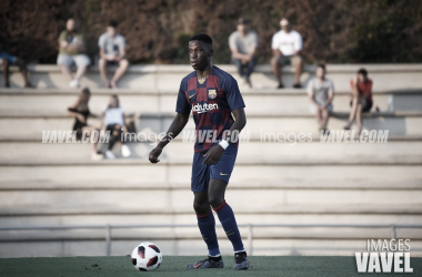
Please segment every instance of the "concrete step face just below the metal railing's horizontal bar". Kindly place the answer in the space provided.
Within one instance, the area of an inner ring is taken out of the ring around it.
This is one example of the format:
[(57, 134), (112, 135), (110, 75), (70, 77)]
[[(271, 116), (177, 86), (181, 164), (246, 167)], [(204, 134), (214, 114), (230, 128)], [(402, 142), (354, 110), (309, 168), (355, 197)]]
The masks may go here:
[[(105, 226), (105, 225), (104, 225)], [(54, 240), (102, 240), (104, 229), (70, 229), (70, 230), (2, 230), (0, 232), (0, 242), (54, 242)], [(227, 238), (221, 226), (217, 226), (219, 239)], [(254, 239), (379, 239), (389, 238), (391, 228), (356, 228), (352, 227), (254, 227)], [(408, 239), (422, 240), (422, 233), (418, 229), (403, 228), (401, 235)], [(241, 234), (248, 234), (247, 227), (240, 227)], [(198, 239), (199, 232), (195, 224), (192, 227), (178, 228), (131, 228), (112, 232), (113, 239), (138, 239), (139, 237), (149, 237), (157, 239)]]

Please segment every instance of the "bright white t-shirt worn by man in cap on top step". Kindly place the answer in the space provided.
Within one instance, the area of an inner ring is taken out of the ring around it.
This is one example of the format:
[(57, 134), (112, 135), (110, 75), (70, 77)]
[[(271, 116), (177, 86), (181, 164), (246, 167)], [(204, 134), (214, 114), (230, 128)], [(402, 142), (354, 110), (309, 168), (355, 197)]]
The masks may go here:
[(283, 30), (272, 35), (271, 48), (278, 49), (283, 55), (293, 55), (295, 51), (302, 50), (302, 35), (294, 30), (285, 33)]

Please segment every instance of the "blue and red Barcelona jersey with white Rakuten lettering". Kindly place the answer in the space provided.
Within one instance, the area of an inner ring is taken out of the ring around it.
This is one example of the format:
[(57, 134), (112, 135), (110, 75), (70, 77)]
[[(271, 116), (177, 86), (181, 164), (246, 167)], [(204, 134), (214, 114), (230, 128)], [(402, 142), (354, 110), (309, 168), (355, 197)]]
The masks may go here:
[[(198, 82), (195, 71), (180, 83), (175, 112), (189, 114), (192, 111), (197, 133), (195, 152), (205, 152), (218, 143), (234, 122), (231, 112), (240, 107), (244, 107), (244, 102), (238, 82), (218, 66), (212, 66), (203, 84)], [(212, 140), (209, 140), (210, 136), (204, 137), (204, 133), (212, 134)]]

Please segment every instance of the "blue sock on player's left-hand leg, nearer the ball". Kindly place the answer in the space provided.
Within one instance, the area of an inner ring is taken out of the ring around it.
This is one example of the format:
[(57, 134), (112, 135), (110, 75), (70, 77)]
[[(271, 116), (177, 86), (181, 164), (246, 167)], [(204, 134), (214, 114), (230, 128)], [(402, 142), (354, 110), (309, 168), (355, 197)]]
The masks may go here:
[(198, 227), (208, 247), (208, 254), (214, 257), (220, 256), (219, 242), (215, 234), (215, 219), (211, 208), (205, 215), (197, 215), (197, 217)]

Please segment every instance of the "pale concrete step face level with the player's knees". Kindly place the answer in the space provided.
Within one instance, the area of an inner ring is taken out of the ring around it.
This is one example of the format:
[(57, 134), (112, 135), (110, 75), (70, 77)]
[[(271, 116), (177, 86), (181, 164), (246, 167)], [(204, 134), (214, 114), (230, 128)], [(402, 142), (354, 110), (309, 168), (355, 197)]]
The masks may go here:
[[(420, 205), (420, 189), (260, 189), (228, 191), (227, 198), (241, 209), (272, 211), (289, 205)], [(104, 208), (114, 203), (115, 208), (141, 213), (177, 213), (190, 211), (192, 193), (187, 189), (107, 189), (107, 191), (2, 191), (0, 209), (18, 207)]]

